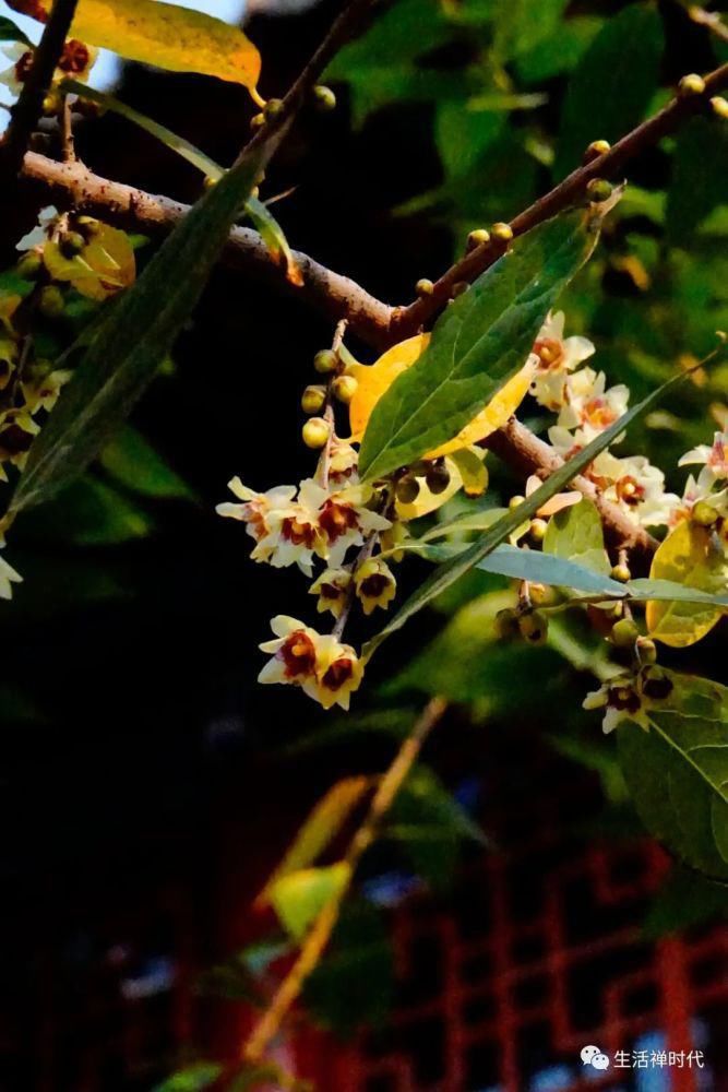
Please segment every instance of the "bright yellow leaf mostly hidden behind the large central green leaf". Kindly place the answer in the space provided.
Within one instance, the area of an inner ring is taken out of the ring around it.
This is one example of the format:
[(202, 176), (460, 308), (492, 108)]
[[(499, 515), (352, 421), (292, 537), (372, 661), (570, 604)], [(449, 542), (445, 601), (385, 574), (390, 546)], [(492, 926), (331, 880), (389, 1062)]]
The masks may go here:
[[(351, 365), (348, 370), (358, 383), (356, 394), (349, 405), (350, 439), (353, 441), (361, 440), (371, 412), (382, 394), (389, 390), (397, 376), (406, 371), (425, 352), (429, 341), (430, 334), (418, 334), (416, 337), (408, 337), (407, 341), (399, 342), (398, 345), (393, 345), (383, 356), (380, 356), (375, 364), (370, 366)], [(429, 451), (425, 458), (438, 459), (440, 455), (449, 455), (453, 451), (460, 451), (461, 448), (469, 448), (478, 440), (490, 436), (497, 428), (501, 428), (509, 417), (513, 416), (528, 393), (533, 373), (534, 366), (525, 364), (521, 371), (513, 376), (491, 399), (485, 410), (473, 418), (469, 425), (466, 425), (453, 440), (441, 444), (434, 451)]]

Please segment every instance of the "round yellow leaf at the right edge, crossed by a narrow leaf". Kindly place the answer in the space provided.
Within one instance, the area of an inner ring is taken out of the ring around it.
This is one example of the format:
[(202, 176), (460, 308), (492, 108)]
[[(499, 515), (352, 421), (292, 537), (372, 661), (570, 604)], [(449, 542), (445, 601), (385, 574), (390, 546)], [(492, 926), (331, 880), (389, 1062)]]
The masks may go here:
[[(649, 575), (653, 580), (672, 580), (704, 592), (721, 592), (728, 568), (723, 547), (714, 544), (708, 529), (683, 520), (655, 554)], [(647, 630), (663, 644), (684, 649), (705, 637), (723, 613), (721, 607), (709, 603), (651, 600), (646, 613)]]

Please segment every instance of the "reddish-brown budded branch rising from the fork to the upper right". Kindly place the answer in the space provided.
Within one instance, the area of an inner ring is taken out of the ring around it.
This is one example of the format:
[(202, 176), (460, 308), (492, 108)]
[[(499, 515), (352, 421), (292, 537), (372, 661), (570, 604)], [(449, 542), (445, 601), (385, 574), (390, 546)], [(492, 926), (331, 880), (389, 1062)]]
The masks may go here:
[[(554, 189), (535, 201), (515, 219), (511, 221), (513, 235), (524, 235), (537, 224), (556, 216), (564, 209), (584, 200), (586, 187), (593, 178), (614, 178), (624, 164), (663, 136), (672, 133), (688, 118), (708, 107), (709, 99), (728, 86), (728, 64), (705, 76), (705, 92), (701, 95), (679, 95), (665, 109), (643, 121), (626, 136), (622, 136), (605, 155), (568, 175)], [(598, 134), (597, 134), (598, 135)], [(395, 311), (392, 323), (392, 342), (402, 341), (417, 333), (451, 298), (454, 285), (469, 283), (479, 276), (503, 253), (503, 246), (494, 239), (472, 250), (456, 262), (434, 285), (428, 296), (416, 299), (409, 307)]]

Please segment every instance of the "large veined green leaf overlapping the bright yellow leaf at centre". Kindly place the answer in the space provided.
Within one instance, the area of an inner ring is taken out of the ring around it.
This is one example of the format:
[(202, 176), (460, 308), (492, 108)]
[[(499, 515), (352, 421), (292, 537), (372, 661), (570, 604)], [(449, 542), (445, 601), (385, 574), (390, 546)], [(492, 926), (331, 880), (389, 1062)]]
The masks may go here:
[(359, 454), (365, 479), (456, 436), (523, 366), (549, 308), (592, 253), (584, 212), (547, 221), (458, 296), (415, 364), (377, 403)]

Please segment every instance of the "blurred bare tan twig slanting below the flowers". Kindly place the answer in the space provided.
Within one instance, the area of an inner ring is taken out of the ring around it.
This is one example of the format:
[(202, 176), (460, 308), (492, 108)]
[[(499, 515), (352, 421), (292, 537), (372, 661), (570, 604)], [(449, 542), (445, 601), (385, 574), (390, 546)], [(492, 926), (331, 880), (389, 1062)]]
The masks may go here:
[(348, 881), (326, 903), (317, 917), (303, 941), (296, 962), (278, 986), (271, 1004), (244, 1044), (243, 1056), (248, 1061), (258, 1063), (265, 1056), (286, 1014), (300, 996), (307, 978), (318, 966), (338, 921), (342, 903), (348, 891), (354, 873), (361, 857), (379, 834), (382, 820), (392, 807), (407, 774), (417, 761), (427, 737), (442, 719), (446, 708), (447, 703), (442, 698), (433, 698), (428, 703), (415, 727), (402, 744), (391, 767), (382, 778), (379, 788), (369, 806), (367, 816), (351, 839), (343, 858), (344, 864), (348, 866)]

